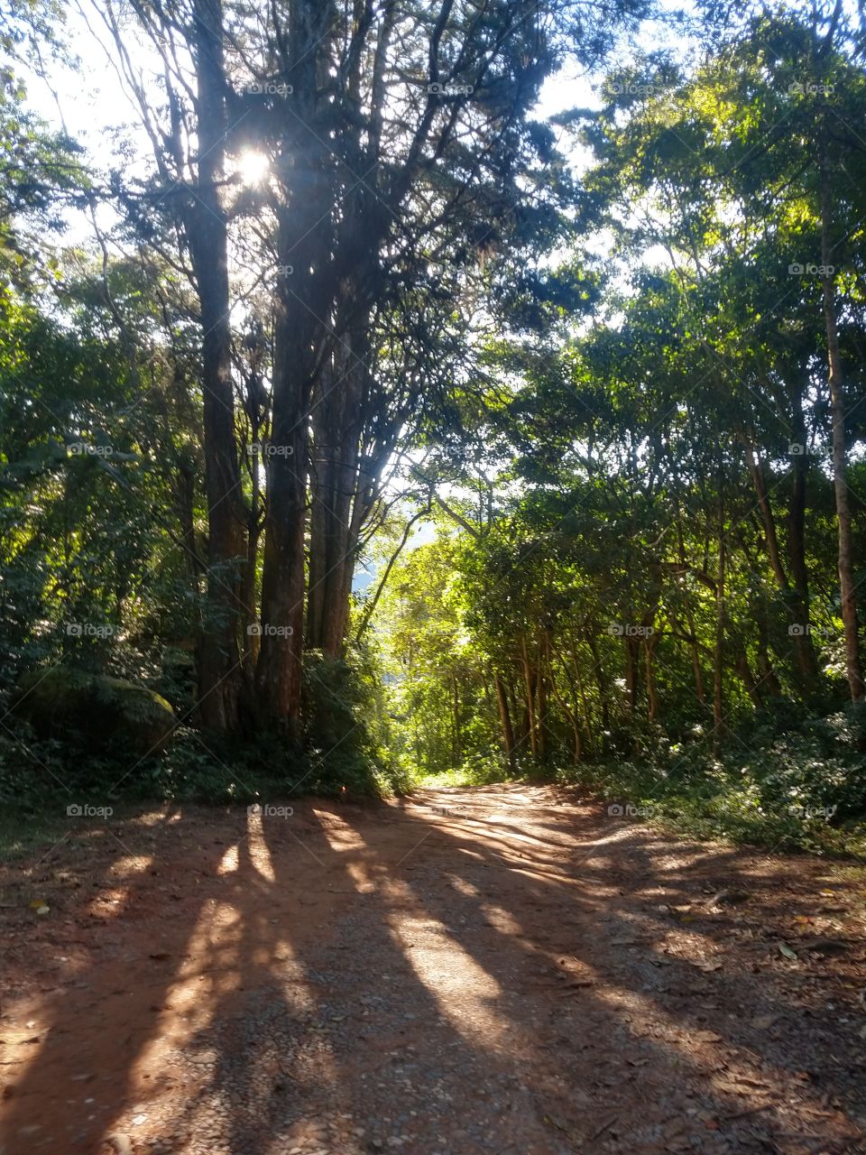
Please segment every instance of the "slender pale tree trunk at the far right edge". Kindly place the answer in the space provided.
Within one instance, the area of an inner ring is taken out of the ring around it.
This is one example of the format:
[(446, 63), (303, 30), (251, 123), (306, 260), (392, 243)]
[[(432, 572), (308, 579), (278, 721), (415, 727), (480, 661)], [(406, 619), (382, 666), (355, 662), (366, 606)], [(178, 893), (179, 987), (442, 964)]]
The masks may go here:
[(851, 546), (851, 507), (848, 497), (848, 448), (845, 445), (845, 393), (842, 378), (842, 355), (836, 323), (836, 300), (831, 268), (836, 260), (830, 240), (833, 193), (830, 171), (824, 161), (821, 166), (821, 263), (823, 274), (824, 326), (827, 328), (827, 358), (829, 363), (830, 415), (833, 420), (833, 484), (836, 493), (838, 524), (838, 571), (842, 597), (842, 623), (845, 631), (845, 672), (851, 701), (864, 696), (860, 665), (860, 639), (857, 623), (857, 586), (854, 583)]

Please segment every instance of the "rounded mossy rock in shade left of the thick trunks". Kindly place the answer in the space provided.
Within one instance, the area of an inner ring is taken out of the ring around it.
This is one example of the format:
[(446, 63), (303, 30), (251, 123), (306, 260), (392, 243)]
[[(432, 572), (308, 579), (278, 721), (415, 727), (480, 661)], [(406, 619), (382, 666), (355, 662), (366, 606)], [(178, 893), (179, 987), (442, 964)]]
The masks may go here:
[(135, 759), (163, 751), (176, 726), (169, 702), (147, 686), (65, 665), (25, 673), (14, 709), (40, 737)]

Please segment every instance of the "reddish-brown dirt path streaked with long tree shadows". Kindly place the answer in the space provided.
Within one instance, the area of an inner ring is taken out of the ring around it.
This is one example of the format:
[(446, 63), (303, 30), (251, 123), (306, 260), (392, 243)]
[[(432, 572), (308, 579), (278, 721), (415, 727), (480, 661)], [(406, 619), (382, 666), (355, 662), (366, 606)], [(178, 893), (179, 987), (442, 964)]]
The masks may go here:
[(866, 1152), (864, 893), (813, 859), (509, 785), (155, 811), (0, 901), (2, 1155)]

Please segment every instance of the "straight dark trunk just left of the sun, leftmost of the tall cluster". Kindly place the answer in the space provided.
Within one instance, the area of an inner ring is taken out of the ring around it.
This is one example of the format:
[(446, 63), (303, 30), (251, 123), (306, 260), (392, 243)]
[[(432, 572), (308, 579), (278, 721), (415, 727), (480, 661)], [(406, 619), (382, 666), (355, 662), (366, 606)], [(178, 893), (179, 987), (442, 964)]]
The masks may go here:
[(229, 262), (219, 198), (226, 132), (221, 0), (195, 0), (199, 189), (186, 229), (201, 301), (208, 599), (199, 649), (199, 717), (219, 732), (239, 724), (242, 688), (238, 627), (245, 513), (234, 437)]

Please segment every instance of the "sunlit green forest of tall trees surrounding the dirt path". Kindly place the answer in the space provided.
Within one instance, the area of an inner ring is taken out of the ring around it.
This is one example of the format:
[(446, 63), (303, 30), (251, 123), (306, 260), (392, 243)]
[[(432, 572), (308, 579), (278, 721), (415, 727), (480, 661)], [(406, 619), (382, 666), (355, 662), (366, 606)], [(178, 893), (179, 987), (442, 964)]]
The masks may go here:
[(528, 775), (856, 848), (864, 43), (16, 0), (3, 803)]

